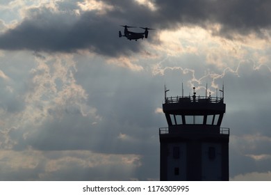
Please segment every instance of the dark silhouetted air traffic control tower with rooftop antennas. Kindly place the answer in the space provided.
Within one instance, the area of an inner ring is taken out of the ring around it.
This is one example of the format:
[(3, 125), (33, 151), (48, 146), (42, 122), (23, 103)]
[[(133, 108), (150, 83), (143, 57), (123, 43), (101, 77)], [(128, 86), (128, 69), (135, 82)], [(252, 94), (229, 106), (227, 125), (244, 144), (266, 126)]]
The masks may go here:
[[(229, 128), (220, 127), (226, 110), (222, 97), (167, 98), (168, 127), (159, 129), (160, 180), (229, 180)], [(207, 91), (206, 91), (207, 93)]]

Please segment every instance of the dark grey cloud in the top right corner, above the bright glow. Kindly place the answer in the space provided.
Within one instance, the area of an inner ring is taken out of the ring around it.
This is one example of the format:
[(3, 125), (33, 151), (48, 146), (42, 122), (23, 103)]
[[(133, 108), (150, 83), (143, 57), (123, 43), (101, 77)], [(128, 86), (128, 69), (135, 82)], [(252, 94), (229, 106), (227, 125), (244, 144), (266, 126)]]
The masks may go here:
[(158, 0), (156, 4), (159, 14), (165, 16), (165, 24), (195, 24), (203, 27), (220, 24), (221, 29), (213, 33), (228, 38), (233, 38), (234, 33), (261, 33), (263, 29), (270, 29), (271, 24), (271, 2), (266, 0)]

